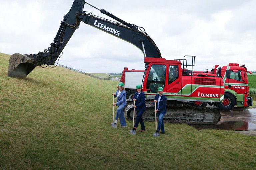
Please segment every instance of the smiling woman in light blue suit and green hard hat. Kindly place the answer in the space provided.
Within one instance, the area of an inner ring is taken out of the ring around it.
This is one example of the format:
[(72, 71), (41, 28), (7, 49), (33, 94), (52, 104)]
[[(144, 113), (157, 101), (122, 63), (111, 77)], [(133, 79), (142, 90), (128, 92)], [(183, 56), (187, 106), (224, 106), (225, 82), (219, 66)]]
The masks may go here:
[(114, 123), (117, 123), (117, 119), (119, 118), (121, 127), (126, 128), (127, 126), (124, 117), (124, 108), (126, 106), (126, 92), (124, 88), (124, 83), (120, 82), (117, 86), (116, 93), (112, 93), (112, 95), (114, 97), (117, 97), (117, 102), (113, 103), (113, 106), (118, 106)]

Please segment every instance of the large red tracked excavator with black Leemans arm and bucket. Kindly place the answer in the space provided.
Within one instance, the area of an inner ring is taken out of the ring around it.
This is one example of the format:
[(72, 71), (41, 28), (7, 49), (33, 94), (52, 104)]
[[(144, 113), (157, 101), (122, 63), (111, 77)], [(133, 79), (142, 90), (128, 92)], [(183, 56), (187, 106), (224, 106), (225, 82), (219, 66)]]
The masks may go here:
[[(104, 9), (101, 13), (116, 21), (111, 21), (83, 11), (85, 0), (74, 0), (70, 11), (64, 16), (56, 37), (47, 49), (38, 54), (11, 55), (8, 76), (25, 78), (36, 66), (54, 65), (62, 50), (79, 27), (84, 22), (101, 31), (109, 33), (138, 47), (144, 54), (145, 72), (142, 90), (147, 96), (147, 110), (144, 119), (154, 120), (154, 107), (151, 100), (157, 94), (157, 88), (164, 89), (167, 96), (167, 113), (165, 121), (172, 123), (187, 123), (212, 125), (220, 121), (221, 115), (214, 108), (197, 107), (194, 102), (221, 102), (224, 98), (224, 83), (216, 74), (193, 73), (195, 56), (184, 56), (183, 59), (166, 60), (155, 42), (145, 32), (143, 27), (127, 23)], [(192, 58), (188, 64), (187, 57)], [(188, 69), (191, 67), (191, 70)], [(132, 104), (127, 104), (125, 115), (131, 118)]]

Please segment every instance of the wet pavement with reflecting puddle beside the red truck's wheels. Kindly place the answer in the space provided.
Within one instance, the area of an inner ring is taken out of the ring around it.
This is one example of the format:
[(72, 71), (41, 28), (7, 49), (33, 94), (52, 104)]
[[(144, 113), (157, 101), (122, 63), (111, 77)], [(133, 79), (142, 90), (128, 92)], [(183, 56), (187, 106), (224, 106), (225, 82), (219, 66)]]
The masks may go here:
[(221, 120), (216, 125), (191, 125), (197, 130), (256, 130), (256, 109), (234, 108), (232, 111), (220, 111)]

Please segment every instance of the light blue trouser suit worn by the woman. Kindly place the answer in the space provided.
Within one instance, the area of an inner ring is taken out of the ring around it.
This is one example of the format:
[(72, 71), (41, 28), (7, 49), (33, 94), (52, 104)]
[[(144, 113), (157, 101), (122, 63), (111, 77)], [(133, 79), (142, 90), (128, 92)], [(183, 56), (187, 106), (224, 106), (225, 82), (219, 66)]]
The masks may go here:
[[(117, 97), (118, 91), (116, 91), (116, 94), (114, 97)], [(124, 108), (126, 106), (126, 92), (124, 90), (121, 91), (121, 94), (117, 97), (116, 105), (118, 106), (116, 110), (116, 120), (119, 118), (121, 126), (126, 126), (126, 121), (124, 117)]]

